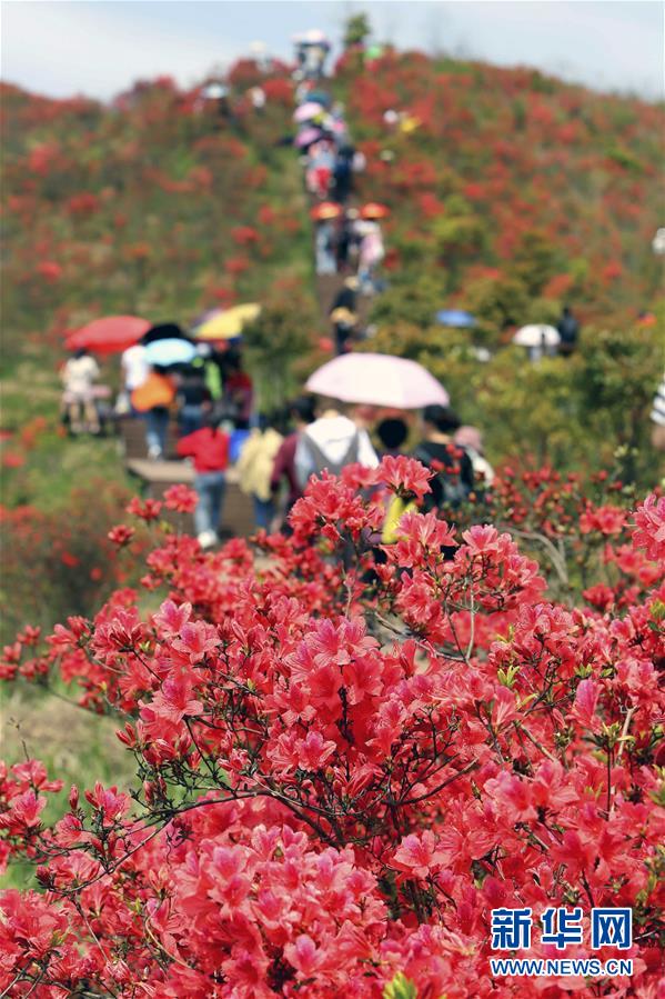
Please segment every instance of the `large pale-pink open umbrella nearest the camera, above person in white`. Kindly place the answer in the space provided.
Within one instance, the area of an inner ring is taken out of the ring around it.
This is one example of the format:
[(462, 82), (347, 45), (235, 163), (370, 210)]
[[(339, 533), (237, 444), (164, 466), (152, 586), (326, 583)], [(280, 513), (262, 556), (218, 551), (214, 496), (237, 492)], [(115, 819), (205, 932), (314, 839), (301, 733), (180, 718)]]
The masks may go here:
[(450, 402), (446, 390), (422, 364), (386, 353), (344, 353), (314, 371), (306, 387), (341, 402), (396, 409)]

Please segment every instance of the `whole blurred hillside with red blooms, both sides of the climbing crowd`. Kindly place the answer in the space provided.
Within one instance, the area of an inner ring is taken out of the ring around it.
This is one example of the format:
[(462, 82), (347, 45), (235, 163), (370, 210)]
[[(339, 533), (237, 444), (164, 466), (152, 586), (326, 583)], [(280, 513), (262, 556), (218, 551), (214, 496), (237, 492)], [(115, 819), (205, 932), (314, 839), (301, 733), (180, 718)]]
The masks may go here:
[[(290, 69), (241, 61), (226, 82), (226, 117), (201, 88), (169, 79), (112, 106), (4, 87), (10, 430), (53, 418), (63, 337), (95, 316), (187, 324), (260, 300), (269, 308), (249, 361), (264, 399), (275, 372), (284, 394), (321, 360), (308, 201), (285, 144)], [(427, 363), (466, 421), (490, 424), (494, 460), (597, 463), (617, 443), (643, 443), (663, 349), (662, 329), (635, 329), (642, 311), (658, 311), (662, 108), (533, 70), (390, 49), (372, 59), (357, 44), (328, 86), (366, 157), (359, 197), (391, 209), (369, 344)], [(583, 322), (584, 360), (518, 370), (523, 356), (504, 349), (514, 327), (553, 321), (564, 302)], [(478, 317), (474, 343), (433, 324), (451, 306)], [(478, 343), (490, 366), (477, 363)], [(576, 433), (582, 448), (571, 447)], [(14, 464), (14, 494), (31, 501), (43, 476)]]

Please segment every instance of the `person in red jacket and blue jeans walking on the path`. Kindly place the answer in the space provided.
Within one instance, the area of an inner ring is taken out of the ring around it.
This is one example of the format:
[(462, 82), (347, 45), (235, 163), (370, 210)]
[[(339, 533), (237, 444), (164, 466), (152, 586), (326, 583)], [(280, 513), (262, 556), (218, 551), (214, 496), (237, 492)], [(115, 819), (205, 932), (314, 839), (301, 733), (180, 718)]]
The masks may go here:
[(201, 430), (188, 433), (178, 441), (181, 458), (193, 458), (197, 477), (194, 489), (199, 503), (194, 510), (194, 527), (201, 548), (212, 548), (218, 541), (218, 528), (229, 466), (229, 434), (220, 430), (221, 417), (210, 413)]

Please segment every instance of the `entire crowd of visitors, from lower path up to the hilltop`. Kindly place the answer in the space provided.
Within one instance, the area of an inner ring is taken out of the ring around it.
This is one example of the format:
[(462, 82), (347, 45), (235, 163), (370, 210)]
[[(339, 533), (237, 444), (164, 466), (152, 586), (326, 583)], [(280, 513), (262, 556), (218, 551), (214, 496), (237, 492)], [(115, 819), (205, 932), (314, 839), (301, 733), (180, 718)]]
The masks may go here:
[[(352, 144), (343, 108), (322, 89), (329, 51), (321, 32), (296, 39), (298, 132), (292, 141), (301, 152), (304, 186), (312, 201), (315, 272), (340, 278), (330, 319), (336, 353), (343, 354), (362, 333), (359, 297), (382, 288), (376, 274), (385, 253), (380, 222), (387, 209), (373, 202), (353, 203), (355, 177), (365, 162)], [(211, 84), (209, 90), (205, 96), (210, 100), (223, 102), (228, 97), (221, 84)], [(255, 107), (261, 110), (259, 96)], [(568, 308), (556, 329), (532, 329), (535, 339), (523, 346), (533, 360), (553, 352), (552, 343), (564, 354), (577, 347), (580, 324)], [(546, 330), (558, 339), (547, 340)], [(187, 362), (155, 364), (149, 348), (160, 338), (188, 343), (192, 357)], [(290, 531), (289, 512), (310, 477), (324, 469), (339, 474), (352, 463), (374, 468), (383, 456), (409, 454), (434, 472), (423, 509), (444, 509), (449, 517), (471, 493), (482, 497), (494, 477), (480, 430), (462, 426), (447, 406), (426, 406), (416, 418), (399, 410), (349, 408), (333, 399), (302, 396), (284, 412), (255, 413), (252, 379), (243, 364), (240, 341), (225, 343), (224, 349), (214, 343), (195, 346), (177, 324), (161, 323), (124, 350), (120, 367), (122, 389), (115, 413), (144, 420), (150, 459), (173, 457), (169, 428), (173, 413), (177, 416), (174, 452), (194, 469), (199, 497), (194, 522), (203, 548), (218, 542), (226, 472), (232, 464), (240, 489), (252, 503), (256, 529), (284, 532)], [(99, 403), (110, 390), (99, 384), (99, 378), (100, 368), (84, 349), (62, 370), (63, 418), (72, 433), (100, 430)], [(654, 404), (653, 419), (659, 429), (665, 422), (661, 397), (665, 389)], [(401, 501), (386, 501), (384, 542), (395, 539), (404, 509)]]

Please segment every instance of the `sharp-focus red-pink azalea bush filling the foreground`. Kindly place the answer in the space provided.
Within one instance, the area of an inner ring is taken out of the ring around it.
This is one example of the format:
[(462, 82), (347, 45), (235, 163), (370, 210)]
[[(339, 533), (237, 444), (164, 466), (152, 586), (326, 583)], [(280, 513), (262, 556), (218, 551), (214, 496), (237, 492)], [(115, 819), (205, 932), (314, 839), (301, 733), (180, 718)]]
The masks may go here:
[[(7, 682), (60, 675), (117, 717), (137, 771), (129, 792), (72, 787), (46, 826), (58, 775), (2, 769), (2, 861), (40, 886), (0, 893), (6, 995), (524, 996), (490, 976), (491, 910), (552, 906), (632, 908), (634, 975), (543, 995), (658, 995), (665, 499), (585, 503), (577, 533), (625, 543), (574, 607), (510, 525), (407, 512), (382, 546), (386, 501), (429, 479), (406, 458), (312, 479), (291, 537), (255, 549), (167, 533), (152, 612), (124, 589), (6, 649)], [(572, 536), (577, 498), (533, 484), (540, 530)]]

